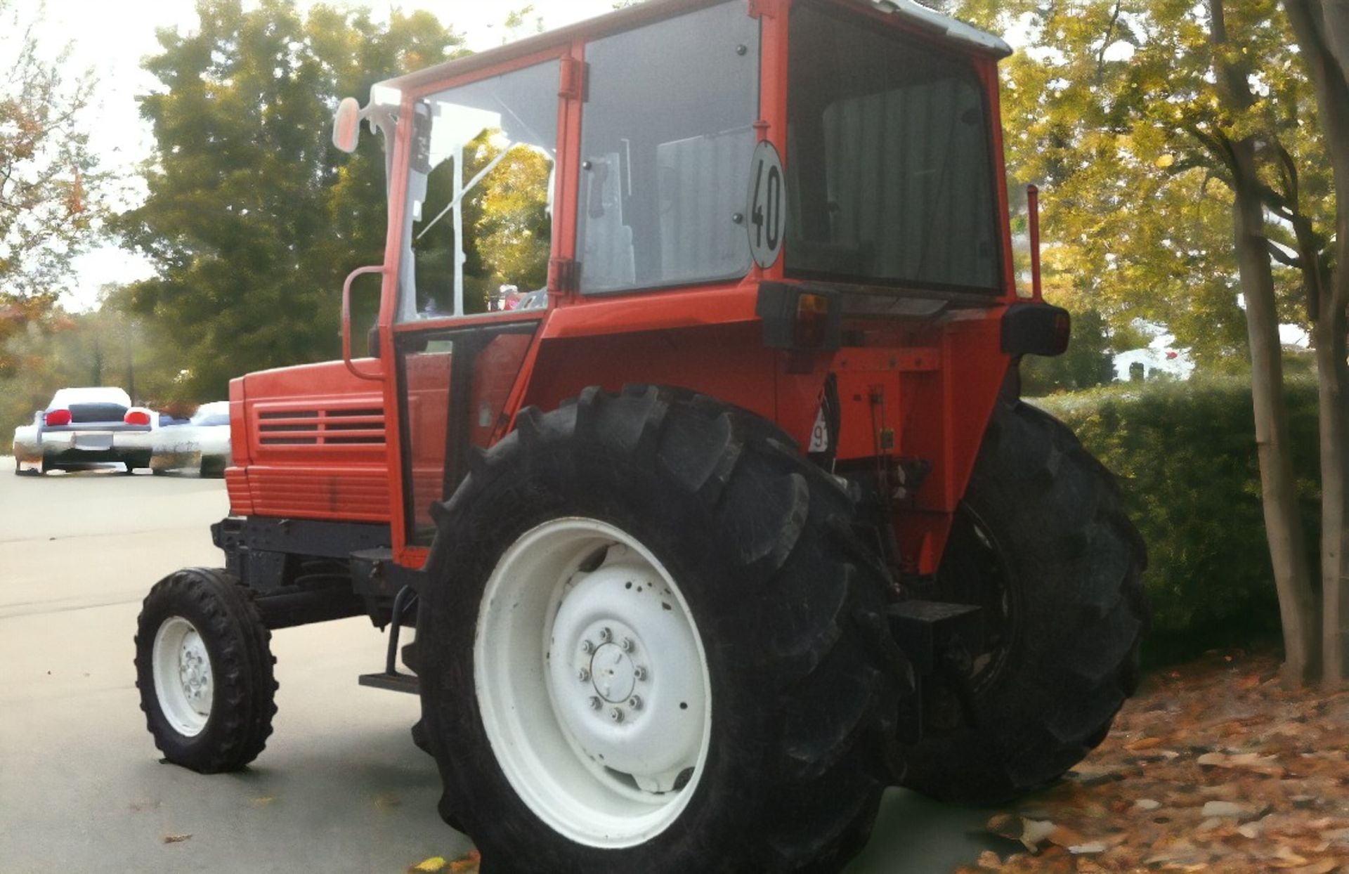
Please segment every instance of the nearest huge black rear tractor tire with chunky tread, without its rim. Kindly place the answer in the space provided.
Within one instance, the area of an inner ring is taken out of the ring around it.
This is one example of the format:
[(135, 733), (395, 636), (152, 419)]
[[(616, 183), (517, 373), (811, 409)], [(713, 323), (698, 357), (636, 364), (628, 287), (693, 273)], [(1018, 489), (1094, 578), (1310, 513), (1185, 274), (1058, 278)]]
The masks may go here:
[[(475, 839), (484, 871), (842, 867), (870, 834), (912, 689), (884, 620), (884, 569), (853, 537), (843, 490), (770, 422), (679, 388), (587, 388), (517, 425), (441, 508), (418, 611), (441, 816)], [(564, 517), (612, 525), (661, 562), (711, 680), (708, 754), (687, 805), (626, 848), (581, 846), (536, 816), (476, 700), (484, 583), (521, 534)]]

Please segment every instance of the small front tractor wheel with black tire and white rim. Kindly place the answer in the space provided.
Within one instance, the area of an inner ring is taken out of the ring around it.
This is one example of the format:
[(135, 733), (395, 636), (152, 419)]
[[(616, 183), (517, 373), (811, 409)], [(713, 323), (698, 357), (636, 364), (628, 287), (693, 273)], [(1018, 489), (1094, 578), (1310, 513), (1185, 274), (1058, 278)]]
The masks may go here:
[(258, 758), (277, 712), (270, 641), (251, 591), (224, 571), (178, 571), (150, 589), (136, 688), (166, 761), (213, 774)]

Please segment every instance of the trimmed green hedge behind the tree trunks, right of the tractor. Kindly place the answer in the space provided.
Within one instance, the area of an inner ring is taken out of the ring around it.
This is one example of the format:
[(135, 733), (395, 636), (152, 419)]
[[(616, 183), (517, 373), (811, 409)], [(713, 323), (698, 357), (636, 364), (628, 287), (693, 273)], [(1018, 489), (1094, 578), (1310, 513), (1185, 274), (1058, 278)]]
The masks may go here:
[[(1241, 645), (1279, 630), (1249, 380), (1128, 383), (1031, 399), (1120, 477), (1148, 544), (1149, 661)], [(1307, 550), (1319, 537), (1317, 386), (1288, 383)]]

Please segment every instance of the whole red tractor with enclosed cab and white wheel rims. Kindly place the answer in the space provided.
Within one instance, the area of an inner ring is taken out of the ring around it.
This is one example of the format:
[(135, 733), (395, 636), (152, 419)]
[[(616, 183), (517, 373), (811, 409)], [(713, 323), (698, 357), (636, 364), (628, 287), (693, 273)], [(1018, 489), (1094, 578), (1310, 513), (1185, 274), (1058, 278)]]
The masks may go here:
[(484, 870), (836, 869), (888, 785), (1078, 762), (1145, 558), (1018, 398), (1068, 320), (1016, 290), (1008, 53), (912, 0), (652, 0), (344, 101), (370, 355), (348, 279), (344, 360), (232, 382), (225, 568), (139, 619), (167, 759), (247, 765), (271, 631), (368, 615)]

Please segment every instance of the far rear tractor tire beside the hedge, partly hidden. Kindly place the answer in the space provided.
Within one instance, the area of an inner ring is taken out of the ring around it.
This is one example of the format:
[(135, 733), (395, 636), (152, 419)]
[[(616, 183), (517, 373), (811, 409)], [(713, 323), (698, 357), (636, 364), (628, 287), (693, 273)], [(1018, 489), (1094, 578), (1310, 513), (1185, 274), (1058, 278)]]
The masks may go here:
[(1000, 402), (932, 595), (983, 607), (985, 650), (924, 691), (904, 785), (997, 804), (1101, 743), (1139, 681), (1145, 564), (1110, 472), (1058, 419)]

